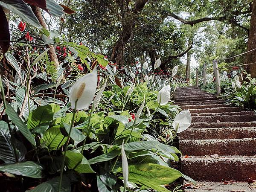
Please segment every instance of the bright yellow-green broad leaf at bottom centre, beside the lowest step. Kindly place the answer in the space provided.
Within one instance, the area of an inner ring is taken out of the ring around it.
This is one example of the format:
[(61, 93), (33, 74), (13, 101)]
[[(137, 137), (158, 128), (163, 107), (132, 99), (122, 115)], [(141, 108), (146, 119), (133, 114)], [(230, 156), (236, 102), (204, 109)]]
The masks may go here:
[(172, 183), (182, 177), (176, 169), (153, 163), (143, 163), (129, 166), (129, 181), (151, 187), (161, 192), (169, 192), (163, 185)]

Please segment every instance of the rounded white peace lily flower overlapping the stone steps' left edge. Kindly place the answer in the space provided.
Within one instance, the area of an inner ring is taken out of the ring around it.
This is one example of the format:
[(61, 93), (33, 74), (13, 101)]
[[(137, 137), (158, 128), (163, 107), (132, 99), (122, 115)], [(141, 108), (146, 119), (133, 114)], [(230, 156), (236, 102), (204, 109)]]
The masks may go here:
[(177, 130), (177, 133), (185, 131), (191, 125), (191, 113), (189, 110), (180, 111), (172, 122), (172, 127)]

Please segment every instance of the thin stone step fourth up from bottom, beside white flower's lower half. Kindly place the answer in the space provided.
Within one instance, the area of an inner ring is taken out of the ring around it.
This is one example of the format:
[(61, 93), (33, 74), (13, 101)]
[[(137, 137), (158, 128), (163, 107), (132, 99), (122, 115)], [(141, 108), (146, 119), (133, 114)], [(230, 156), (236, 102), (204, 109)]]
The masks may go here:
[(222, 128), (222, 127), (256, 127), (256, 121), (253, 122), (195, 122), (191, 123), (189, 128)]

